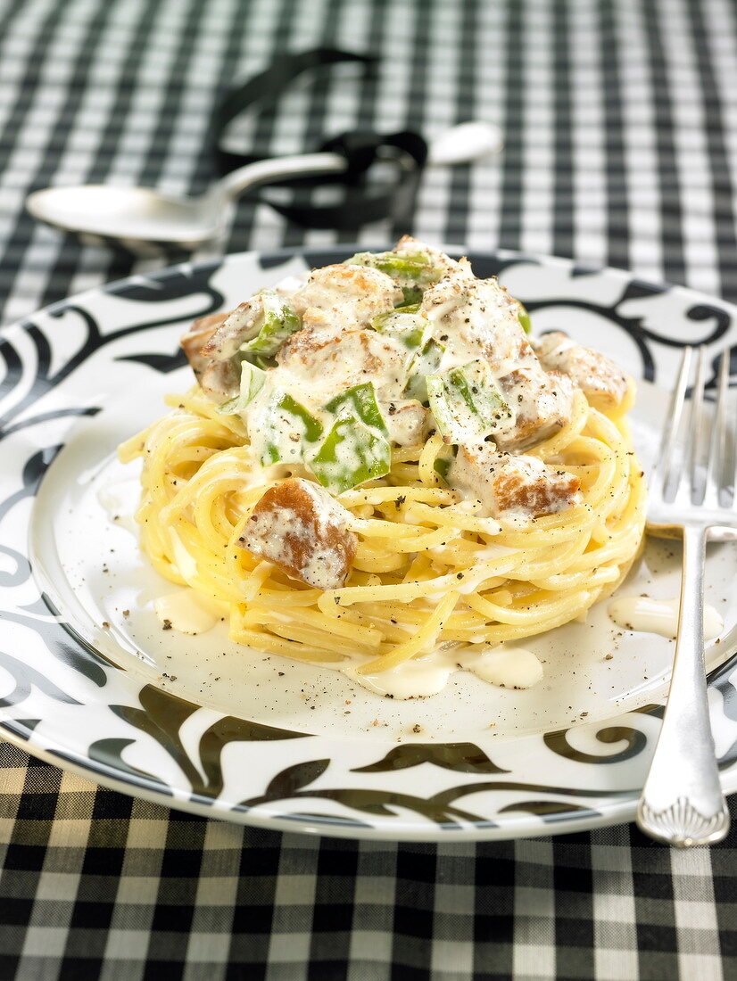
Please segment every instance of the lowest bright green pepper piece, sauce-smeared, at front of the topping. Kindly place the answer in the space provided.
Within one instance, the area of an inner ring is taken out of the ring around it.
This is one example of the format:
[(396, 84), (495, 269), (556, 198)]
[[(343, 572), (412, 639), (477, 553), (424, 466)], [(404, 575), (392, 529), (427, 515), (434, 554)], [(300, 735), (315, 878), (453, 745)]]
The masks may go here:
[(342, 493), (389, 473), (392, 448), (356, 416), (336, 420), (308, 466), (323, 487)]

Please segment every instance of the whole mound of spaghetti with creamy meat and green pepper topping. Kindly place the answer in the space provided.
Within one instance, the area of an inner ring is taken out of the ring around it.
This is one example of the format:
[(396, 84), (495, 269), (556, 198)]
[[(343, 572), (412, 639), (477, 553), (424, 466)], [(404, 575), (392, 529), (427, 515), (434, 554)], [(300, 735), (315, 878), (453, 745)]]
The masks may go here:
[(540, 634), (621, 581), (644, 530), (632, 381), (405, 236), (182, 339), (196, 385), (133, 437), (142, 546), (237, 642), (379, 673)]

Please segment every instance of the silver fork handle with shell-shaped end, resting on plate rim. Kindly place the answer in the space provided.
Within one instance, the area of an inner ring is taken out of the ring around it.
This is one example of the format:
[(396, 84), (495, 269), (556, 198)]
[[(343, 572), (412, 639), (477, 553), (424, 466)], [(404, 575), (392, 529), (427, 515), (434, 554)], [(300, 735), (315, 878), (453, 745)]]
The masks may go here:
[(729, 831), (707, 701), (706, 545), (706, 528), (684, 528), (678, 640), (670, 692), (637, 807), (637, 823), (646, 834), (680, 848), (720, 842)]

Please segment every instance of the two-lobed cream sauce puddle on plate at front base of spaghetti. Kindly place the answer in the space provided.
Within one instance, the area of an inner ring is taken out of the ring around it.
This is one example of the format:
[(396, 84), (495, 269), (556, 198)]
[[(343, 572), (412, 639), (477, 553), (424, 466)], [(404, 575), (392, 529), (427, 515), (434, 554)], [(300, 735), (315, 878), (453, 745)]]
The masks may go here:
[(487, 646), (481, 650), (460, 645), (442, 648), (379, 674), (361, 674), (360, 664), (361, 660), (350, 659), (324, 666), (340, 671), (375, 695), (390, 695), (399, 700), (438, 695), (456, 671), (468, 671), (490, 685), (511, 689), (532, 688), (543, 678), (543, 665), (536, 655), (514, 645)]

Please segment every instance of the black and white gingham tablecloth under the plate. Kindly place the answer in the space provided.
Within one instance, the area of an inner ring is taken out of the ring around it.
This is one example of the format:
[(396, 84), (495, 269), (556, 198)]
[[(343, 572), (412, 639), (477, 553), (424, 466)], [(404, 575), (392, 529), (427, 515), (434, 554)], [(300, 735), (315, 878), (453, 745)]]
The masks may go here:
[[(367, 227), (367, 243), (555, 253), (737, 300), (730, 0), (2, 0), (3, 322), (161, 264), (35, 225), (28, 191), (203, 190), (216, 95), (317, 44), (376, 52), (380, 72), (296, 85), (238, 124), (240, 145), (504, 130), (500, 159), (429, 171), (414, 228)], [(336, 237), (243, 203), (227, 248)], [(737, 977), (734, 832), (711, 852), (629, 826), (440, 848), (283, 836), (100, 790), (7, 743), (0, 794), (1, 979)]]

